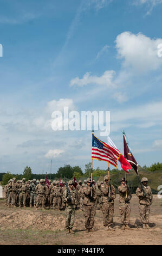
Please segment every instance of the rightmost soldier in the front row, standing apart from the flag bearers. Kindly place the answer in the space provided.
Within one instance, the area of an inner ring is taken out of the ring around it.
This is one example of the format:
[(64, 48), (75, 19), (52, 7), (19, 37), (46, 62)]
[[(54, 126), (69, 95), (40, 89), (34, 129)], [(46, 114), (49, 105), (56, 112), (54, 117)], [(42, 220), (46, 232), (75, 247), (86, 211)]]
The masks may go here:
[(149, 216), (150, 216), (150, 205), (152, 204), (152, 191), (151, 187), (147, 186), (148, 179), (142, 178), (141, 182), (144, 186), (144, 192), (141, 187), (138, 187), (136, 190), (136, 196), (139, 198), (139, 212), (140, 212), (140, 221), (143, 229), (150, 228), (148, 226)]

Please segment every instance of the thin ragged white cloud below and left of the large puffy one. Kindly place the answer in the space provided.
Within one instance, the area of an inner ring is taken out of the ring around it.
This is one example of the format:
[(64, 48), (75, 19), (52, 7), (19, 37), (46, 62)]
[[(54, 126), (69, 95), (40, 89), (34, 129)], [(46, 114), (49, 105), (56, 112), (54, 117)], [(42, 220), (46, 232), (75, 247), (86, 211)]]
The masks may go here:
[(83, 78), (75, 77), (70, 81), (70, 86), (86, 86), (87, 84), (97, 84), (99, 86), (115, 87), (113, 83), (114, 70), (106, 70), (102, 76), (92, 76), (87, 72)]

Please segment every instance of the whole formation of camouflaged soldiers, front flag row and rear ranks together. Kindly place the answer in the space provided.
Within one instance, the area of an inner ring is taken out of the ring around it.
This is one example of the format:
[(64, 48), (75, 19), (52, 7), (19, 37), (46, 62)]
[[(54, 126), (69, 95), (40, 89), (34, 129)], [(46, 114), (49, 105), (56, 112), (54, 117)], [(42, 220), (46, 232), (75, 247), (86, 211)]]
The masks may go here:
[[(103, 226), (108, 230), (115, 230), (113, 227), (114, 200), (116, 192), (110, 182), (108, 175), (104, 177), (104, 182), (94, 182), (90, 178), (82, 181), (79, 180), (76, 189), (73, 180), (68, 184), (62, 181), (49, 180), (46, 185), (45, 180), (40, 179), (28, 180), (25, 178), (18, 180), (12, 178), (5, 186), (5, 204), (9, 207), (29, 206), (44, 209), (65, 210), (66, 230), (68, 233), (74, 233), (75, 210), (81, 209), (85, 216), (85, 228), (87, 232), (94, 231), (95, 210), (99, 204), (103, 214)], [(140, 221), (143, 229), (149, 228), (150, 205), (152, 204), (152, 191), (147, 186), (147, 178), (141, 179), (142, 186), (136, 190), (136, 196), (139, 198)], [(121, 230), (130, 229), (130, 200), (132, 198), (131, 190), (127, 186), (125, 178), (121, 179), (121, 185), (118, 187), (119, 192), (119, 210), (121, 216)]]

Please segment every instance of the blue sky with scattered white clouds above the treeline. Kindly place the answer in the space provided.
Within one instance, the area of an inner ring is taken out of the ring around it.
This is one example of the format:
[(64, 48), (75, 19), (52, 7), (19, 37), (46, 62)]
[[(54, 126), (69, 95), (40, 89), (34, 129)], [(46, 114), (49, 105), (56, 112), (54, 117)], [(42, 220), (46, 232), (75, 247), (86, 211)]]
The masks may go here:
[[(116, 147), (123, 153), (125, 130), (141, 166), (161, 162), (161, 0), (0, 0), (0, 7), (0, 172), (28, 165), (49, 173), (51, 159), (52, 173), (64, 164), (84, 170), (91, 131), (51, 128), (51, 114), (64, 106), (110, 111)], [(107, 163), (94, 160), (98, 166)]]

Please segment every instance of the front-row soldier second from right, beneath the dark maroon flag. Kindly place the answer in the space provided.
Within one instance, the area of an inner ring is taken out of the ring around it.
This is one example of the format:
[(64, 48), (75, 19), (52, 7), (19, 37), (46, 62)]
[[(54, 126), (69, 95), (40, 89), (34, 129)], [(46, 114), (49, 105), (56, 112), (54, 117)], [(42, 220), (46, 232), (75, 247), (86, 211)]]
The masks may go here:
[(127, 186), (125, 178), (121, 179), (121, 186), (118, 187), (119, 191), (119, 210), (121, 216), (121, 230), (130, 229), (130, 200), (132, 198), (131, 190)]

